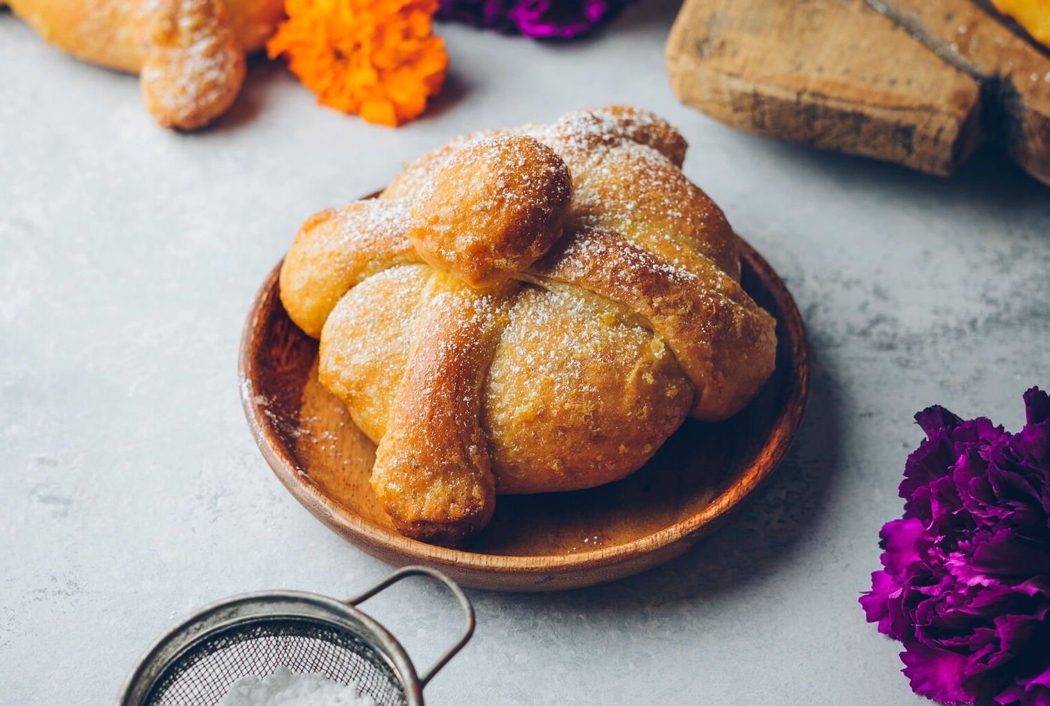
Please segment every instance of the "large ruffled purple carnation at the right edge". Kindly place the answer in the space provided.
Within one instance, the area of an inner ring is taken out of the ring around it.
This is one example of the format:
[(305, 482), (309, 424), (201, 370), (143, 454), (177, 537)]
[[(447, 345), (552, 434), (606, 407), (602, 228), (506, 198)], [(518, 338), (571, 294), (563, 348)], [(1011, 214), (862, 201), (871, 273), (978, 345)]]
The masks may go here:
[(899, 640), (911, 688), (944, 704), (1050, 706), (1050, 396), (1017, 434), (941, 407), (916, 415), (904, 517), (880, 533), (860, 603)]

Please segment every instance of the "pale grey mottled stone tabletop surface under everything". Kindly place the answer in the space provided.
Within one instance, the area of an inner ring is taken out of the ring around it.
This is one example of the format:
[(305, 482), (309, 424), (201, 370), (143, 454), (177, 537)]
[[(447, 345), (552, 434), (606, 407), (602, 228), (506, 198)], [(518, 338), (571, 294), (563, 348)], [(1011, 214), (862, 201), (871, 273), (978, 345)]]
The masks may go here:
[[(0, 702), (109, 703), (195, 606), (383, 576), (248, 433), (236, 352), (256, 287), (307, 215), (453, 134), (628, 102), (682, 128), (689, 175), (794, 292), (810, 412), (775, 479), (686, 557), (589, 590), (474, 594), (477, 637), (430, 703), (918, 703), (856, 599), (900, 512), (911, 414), (1016, 427), (1021, 393), (1050, 385), (1050, 190), (994, 155), (940, 181), (733, 132), (667, 87), (673, 12), (646, 0), (571, 46), (442, 27), (448, 89), (398, 130), (259, 63), (194, 136), (0, 12)], [(455, 630), (426, 585), (374, 610), (421, 663)]]

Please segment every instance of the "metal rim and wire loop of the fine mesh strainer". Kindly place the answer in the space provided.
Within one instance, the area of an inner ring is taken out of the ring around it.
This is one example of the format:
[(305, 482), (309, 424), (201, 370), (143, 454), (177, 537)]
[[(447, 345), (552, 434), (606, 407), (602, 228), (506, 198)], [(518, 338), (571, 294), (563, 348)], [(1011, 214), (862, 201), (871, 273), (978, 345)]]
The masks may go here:
[[(401, 643), (378, 621), (356, 606), (392, 584), (410, 576), (423, 576), (443, 583), (456, 597), (466, 617), (466, 628), (460, 639), (448, 648), (427, 670), (422, 679)], [(313, 607), (320, 612), (306, 609), (284, 609), (282, 611), (255, 610), (242, 614), (246, 606), (259, 608), (285, 602), (300, 608)], [(441, 572), (426, 566), (405, 566), (391, 574), (369, 590), (340, 601), (321, 594), (301, 590), (262, 590), (231, 596), (210, 603), (195, 611), (186, 620), (168, 629), (139, 660), (121, 689), (117, 706), (141, 706), (149, 697), (167, 670), (194, 649), (202, 642), (234, 627), (267, 619), (300, 619), (314, 622), (329, 622), (351, 632), (371, 634), (378, 643), (380, 657), (400, 679), (408, 706), (423, 705), (423, 687), (455, 655), (462, 649), (474, 635), (474, 608), (463, 590)]]

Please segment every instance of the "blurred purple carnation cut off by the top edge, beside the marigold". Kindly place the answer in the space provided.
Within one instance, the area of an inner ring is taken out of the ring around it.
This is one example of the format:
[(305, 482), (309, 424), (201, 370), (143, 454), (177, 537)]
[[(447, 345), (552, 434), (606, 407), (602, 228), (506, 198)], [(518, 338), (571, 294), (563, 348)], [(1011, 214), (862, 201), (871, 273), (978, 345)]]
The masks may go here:
[(593, 32), (631, 0), (440, 0), (438, 17), (533, 39)]

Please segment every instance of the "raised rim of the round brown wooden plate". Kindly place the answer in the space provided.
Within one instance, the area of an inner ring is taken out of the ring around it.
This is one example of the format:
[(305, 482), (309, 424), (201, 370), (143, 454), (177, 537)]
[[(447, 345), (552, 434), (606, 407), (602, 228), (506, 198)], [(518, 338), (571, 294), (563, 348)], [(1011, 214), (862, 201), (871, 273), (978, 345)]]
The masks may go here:
[(276, 299), (280, 263), (270, 272), (252, 303), (240, 338), (238, 375), (240, 398), (248, 424), (255, 441), (270, 468), (311, 514), (346, 539), (355, 538), (364, 544), (382, 547), (387, 552), (432, 564), (477, 569), (489, 574), (567, 574), (581, 569), (611, 566), (623, 561), (655, 553), (682, 540), (698, 537), (701, 530), (721, 518), (743, 500), (783, 460), (792, 439), (798, 431), (808, 397), (808, 351), (801, 314), (794, 298), (770, 264), (743, 238), (740, 256), (752, 268), (777, 304), (781, 335), (791, 340), (789, 367), (791, 379), (785, 392), (785, 403), (773, 421), (773, 432), (760, 448), (748, 471), (724, 489), (710, 504), (692, 517), (675, 522), (663, 530), (607, 548), (591, 549), (571, 555), (513, 556), (495, 555), (454, 549), (427, 544), (403, 537), (394, 531), (384, 531), (364, 522), (359, 516), (345, 512), (328, 498), (308, 477), (296, 470), (292, 459), (276, 434), (266, 423), (266, 415), (254, 400), (254, 361), (251, 352), (256, 332)]

